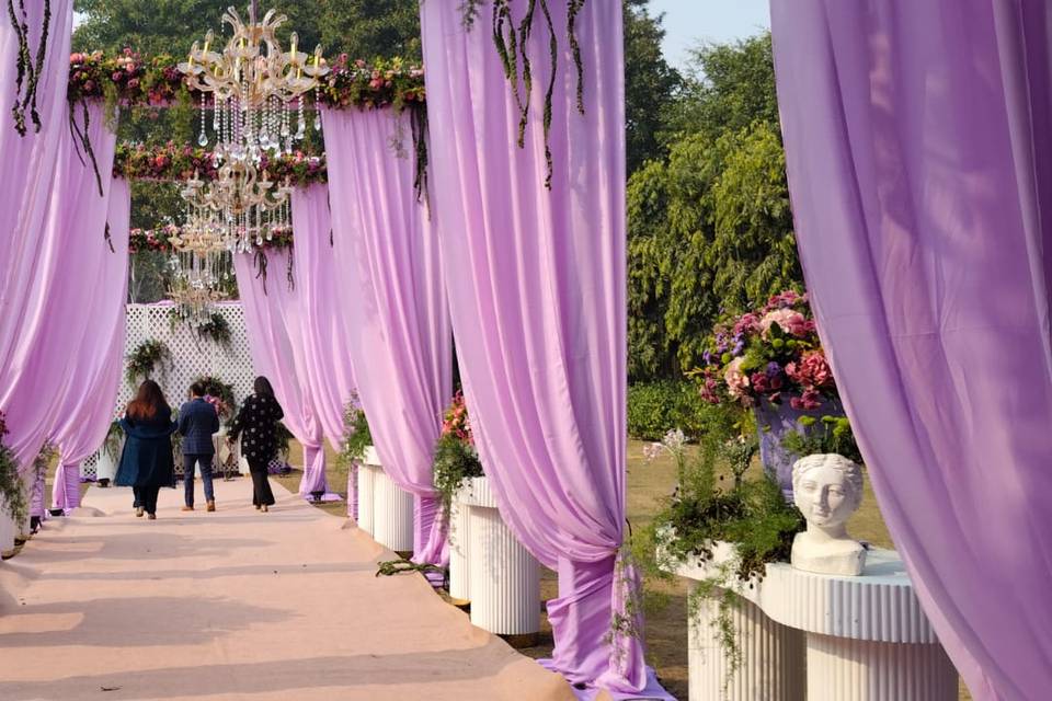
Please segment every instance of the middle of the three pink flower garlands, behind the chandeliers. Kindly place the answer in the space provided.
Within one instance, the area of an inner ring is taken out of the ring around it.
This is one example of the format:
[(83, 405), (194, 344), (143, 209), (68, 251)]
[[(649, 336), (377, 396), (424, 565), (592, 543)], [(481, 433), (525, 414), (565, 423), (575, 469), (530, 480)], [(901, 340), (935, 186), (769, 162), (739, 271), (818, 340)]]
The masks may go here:
[[(275, 182), (287, 180), (294, 187), (329, 181), (324, 153), (311, 156), (296, 151), (278, 159), (264, 157), (260, 169), (267, 171)], [(118, 143), (113, 158), (113, 176), (125, 180), (187, 181), (194, 173), (204, 181), (216, 179), (218, 169), (211, 151), (173, 141), (156, 147)]]

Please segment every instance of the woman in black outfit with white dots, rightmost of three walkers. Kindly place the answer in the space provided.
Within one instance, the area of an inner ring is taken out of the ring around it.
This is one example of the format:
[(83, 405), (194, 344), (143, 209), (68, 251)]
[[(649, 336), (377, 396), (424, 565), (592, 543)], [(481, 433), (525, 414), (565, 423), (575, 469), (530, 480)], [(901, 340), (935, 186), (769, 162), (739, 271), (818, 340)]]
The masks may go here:
[(285, 416), (274, 399), (274, 388), (265, 377), (255, 378), (255, 392), (241, 405), (227, 440), (241, 436), (241, 453), (249, 461), (252, 473), (252, 504), (264, 512), (274, 504), (274, 494), (267, 480), (267, 466), (277, 456), (277, 422)]

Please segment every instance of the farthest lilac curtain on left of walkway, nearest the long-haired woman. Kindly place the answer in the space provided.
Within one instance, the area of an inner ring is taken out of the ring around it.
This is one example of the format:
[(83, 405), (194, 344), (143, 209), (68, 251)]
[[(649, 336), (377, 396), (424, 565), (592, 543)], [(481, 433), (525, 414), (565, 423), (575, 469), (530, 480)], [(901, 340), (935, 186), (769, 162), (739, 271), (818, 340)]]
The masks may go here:
[(52, 506), (66, 512), (80, 506), (80, 463), (102, 445), (113, 421), (124, 369), (125, 299), (128, 295), (128, 232), (132, 193), (116, 180), (110, 187), (106, 223), (114, 251), (103, 256), (90, 298), (91, 323), (77, 344), (75, 367), (52, 434), (59, 466)]

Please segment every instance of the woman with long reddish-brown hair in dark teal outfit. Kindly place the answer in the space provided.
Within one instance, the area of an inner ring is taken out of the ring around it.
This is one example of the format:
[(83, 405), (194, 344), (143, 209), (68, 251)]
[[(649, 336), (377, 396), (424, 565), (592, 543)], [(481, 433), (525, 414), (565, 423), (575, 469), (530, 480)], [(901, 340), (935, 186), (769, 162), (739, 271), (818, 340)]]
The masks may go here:
[(162, 486), (175, 486), (172, 434), (178, 426), (158, 383), (142, 382), (121, 420), (128, 438), (114, 479), (114, 484), (133, 489), (136, 516), (145, 512), (150, 520), (157, 518), (158, 492)]

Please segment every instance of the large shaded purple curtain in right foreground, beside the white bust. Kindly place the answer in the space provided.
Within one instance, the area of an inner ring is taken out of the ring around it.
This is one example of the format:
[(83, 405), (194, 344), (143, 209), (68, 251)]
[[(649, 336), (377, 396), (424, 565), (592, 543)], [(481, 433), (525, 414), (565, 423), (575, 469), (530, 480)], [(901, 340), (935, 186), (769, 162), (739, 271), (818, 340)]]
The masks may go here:
[(884, 519), (973, 698), (1047, 698), (1052, 10), (771, 11), (801, 257)]

